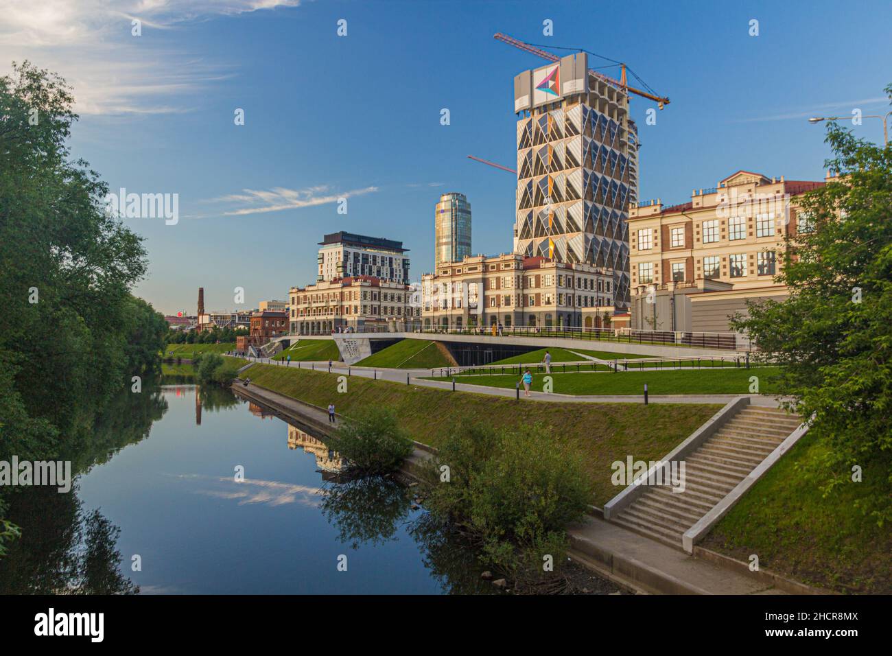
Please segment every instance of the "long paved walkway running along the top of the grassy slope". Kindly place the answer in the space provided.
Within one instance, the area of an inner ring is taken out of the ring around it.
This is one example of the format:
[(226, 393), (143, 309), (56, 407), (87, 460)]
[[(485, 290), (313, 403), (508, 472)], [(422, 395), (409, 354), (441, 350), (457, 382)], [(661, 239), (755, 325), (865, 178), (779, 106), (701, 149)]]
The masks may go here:
[[(300, 367), (301, 369), (314, 369), (317, 371), (328, 371), (328, 362), (291, 362), (290, 365), (278, 364), (277, 361), (268, 361), (266, 358), (253, 359), (264, 364), (273, 364), (275, 366), (290, 366), (292, 369)], [(332, 365), (331, 372), (333, 374), (347, 374), (351, 376), (359, 376), (360, 378), (378, 378), (380, 380), (391, 380), (396, 383), (405, 383), (407, 376), (411, 385), (420, 387), (434, 387), (436, 389), (452, 389), (452, 383), (448, 380), (426, 380), (425, 376), (431, 375), (429, 369), (373, 369), (371, 367), (348, 367), (343, 362), (335, 362)], [(607, 374), (605, 374), (607, 375)], [(250, 377), (251, 374), (249, 373)], [(461, 378), (458, 378), (460, 380)], [(468, 385), (466, 383), (455, 384), (455, 388), (459, 392), (472, 392), (474, 394), (490, 394), (491, 396), (502, 396), (504, 398), (516, 398), (516, 390), (506, 387), (491, 387), (483, 385)], [(753, 405), (764, 405), (769, 407), (777, 407), (780, 399), (772, 396), (763, 396), (760, 394), (649, 394), (649, 403), (719, 403), (725, 404), (736, 399), (739, 396), (749, 396), (750, 403)], [(644, 403), (642, 394), (546, 394), (544, 392), (531, 392), (529, 396), (520, 395), (521, 401), (545, 401), (549, 403)]]

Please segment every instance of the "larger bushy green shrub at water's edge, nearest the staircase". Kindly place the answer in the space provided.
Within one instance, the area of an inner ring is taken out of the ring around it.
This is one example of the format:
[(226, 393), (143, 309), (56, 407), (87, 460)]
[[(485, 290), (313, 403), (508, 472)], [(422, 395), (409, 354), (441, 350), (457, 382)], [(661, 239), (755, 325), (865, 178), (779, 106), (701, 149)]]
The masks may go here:
[[(448, 482), (441, 480), (442, 465), (450, 468)], [(425, 505), (473, 536), (484, 559), (521, 586), (548, 574), (545, 556), (561, 566), (566, 527), (591, 502), (582, 454), (541, 425), (459, 426), (442, 444), (430, 477)]]

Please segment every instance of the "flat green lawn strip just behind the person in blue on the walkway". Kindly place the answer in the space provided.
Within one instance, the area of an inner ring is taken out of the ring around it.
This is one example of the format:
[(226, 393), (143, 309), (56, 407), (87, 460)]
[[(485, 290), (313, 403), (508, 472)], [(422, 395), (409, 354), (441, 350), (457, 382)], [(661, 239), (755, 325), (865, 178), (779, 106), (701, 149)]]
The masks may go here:
[[(778, 372), (776, 367), (566, 374), (558, 373), (557, 369), (552, 367), (551, 374), (554, 378), (551, 391), (555, 394), (644, 394), (645, 383), (648, 384), (649, 394), (749, 394), (751, 376), (759, 378), (759, 393), (772, 394), (778, 391), (771, 380)], [(519, 378), (508, 374), (457, 377), (467, 385), (510, 389), (514, 388)], [(541, 392), (544, 378), (541, 372), (533, 373), (533, 385), (530, 389)], [(449, 377), (432, 379), (451, 380)]]

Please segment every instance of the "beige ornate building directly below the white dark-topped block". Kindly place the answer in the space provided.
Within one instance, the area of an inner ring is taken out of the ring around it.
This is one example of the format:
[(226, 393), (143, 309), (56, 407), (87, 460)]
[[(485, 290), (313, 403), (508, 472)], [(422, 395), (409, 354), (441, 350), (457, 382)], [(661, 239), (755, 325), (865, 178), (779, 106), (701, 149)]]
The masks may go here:
[(400, 282), (372, 276), (335, 278), (289, 290), (289, 326), (292, 335), (326, 335), (350, 328), (396, 328), (417, 323), (412, 289)]

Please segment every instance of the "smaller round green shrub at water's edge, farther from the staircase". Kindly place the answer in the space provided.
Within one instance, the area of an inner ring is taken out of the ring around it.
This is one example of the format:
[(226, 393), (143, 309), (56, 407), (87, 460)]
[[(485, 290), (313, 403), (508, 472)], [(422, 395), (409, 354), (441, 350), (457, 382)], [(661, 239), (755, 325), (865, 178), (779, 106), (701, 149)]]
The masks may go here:
[(346, 419), (326, 443), (350, 462), (351, 469), (364, 475), (391, 473), (413, 448), (393, 411), (375, 407)]

